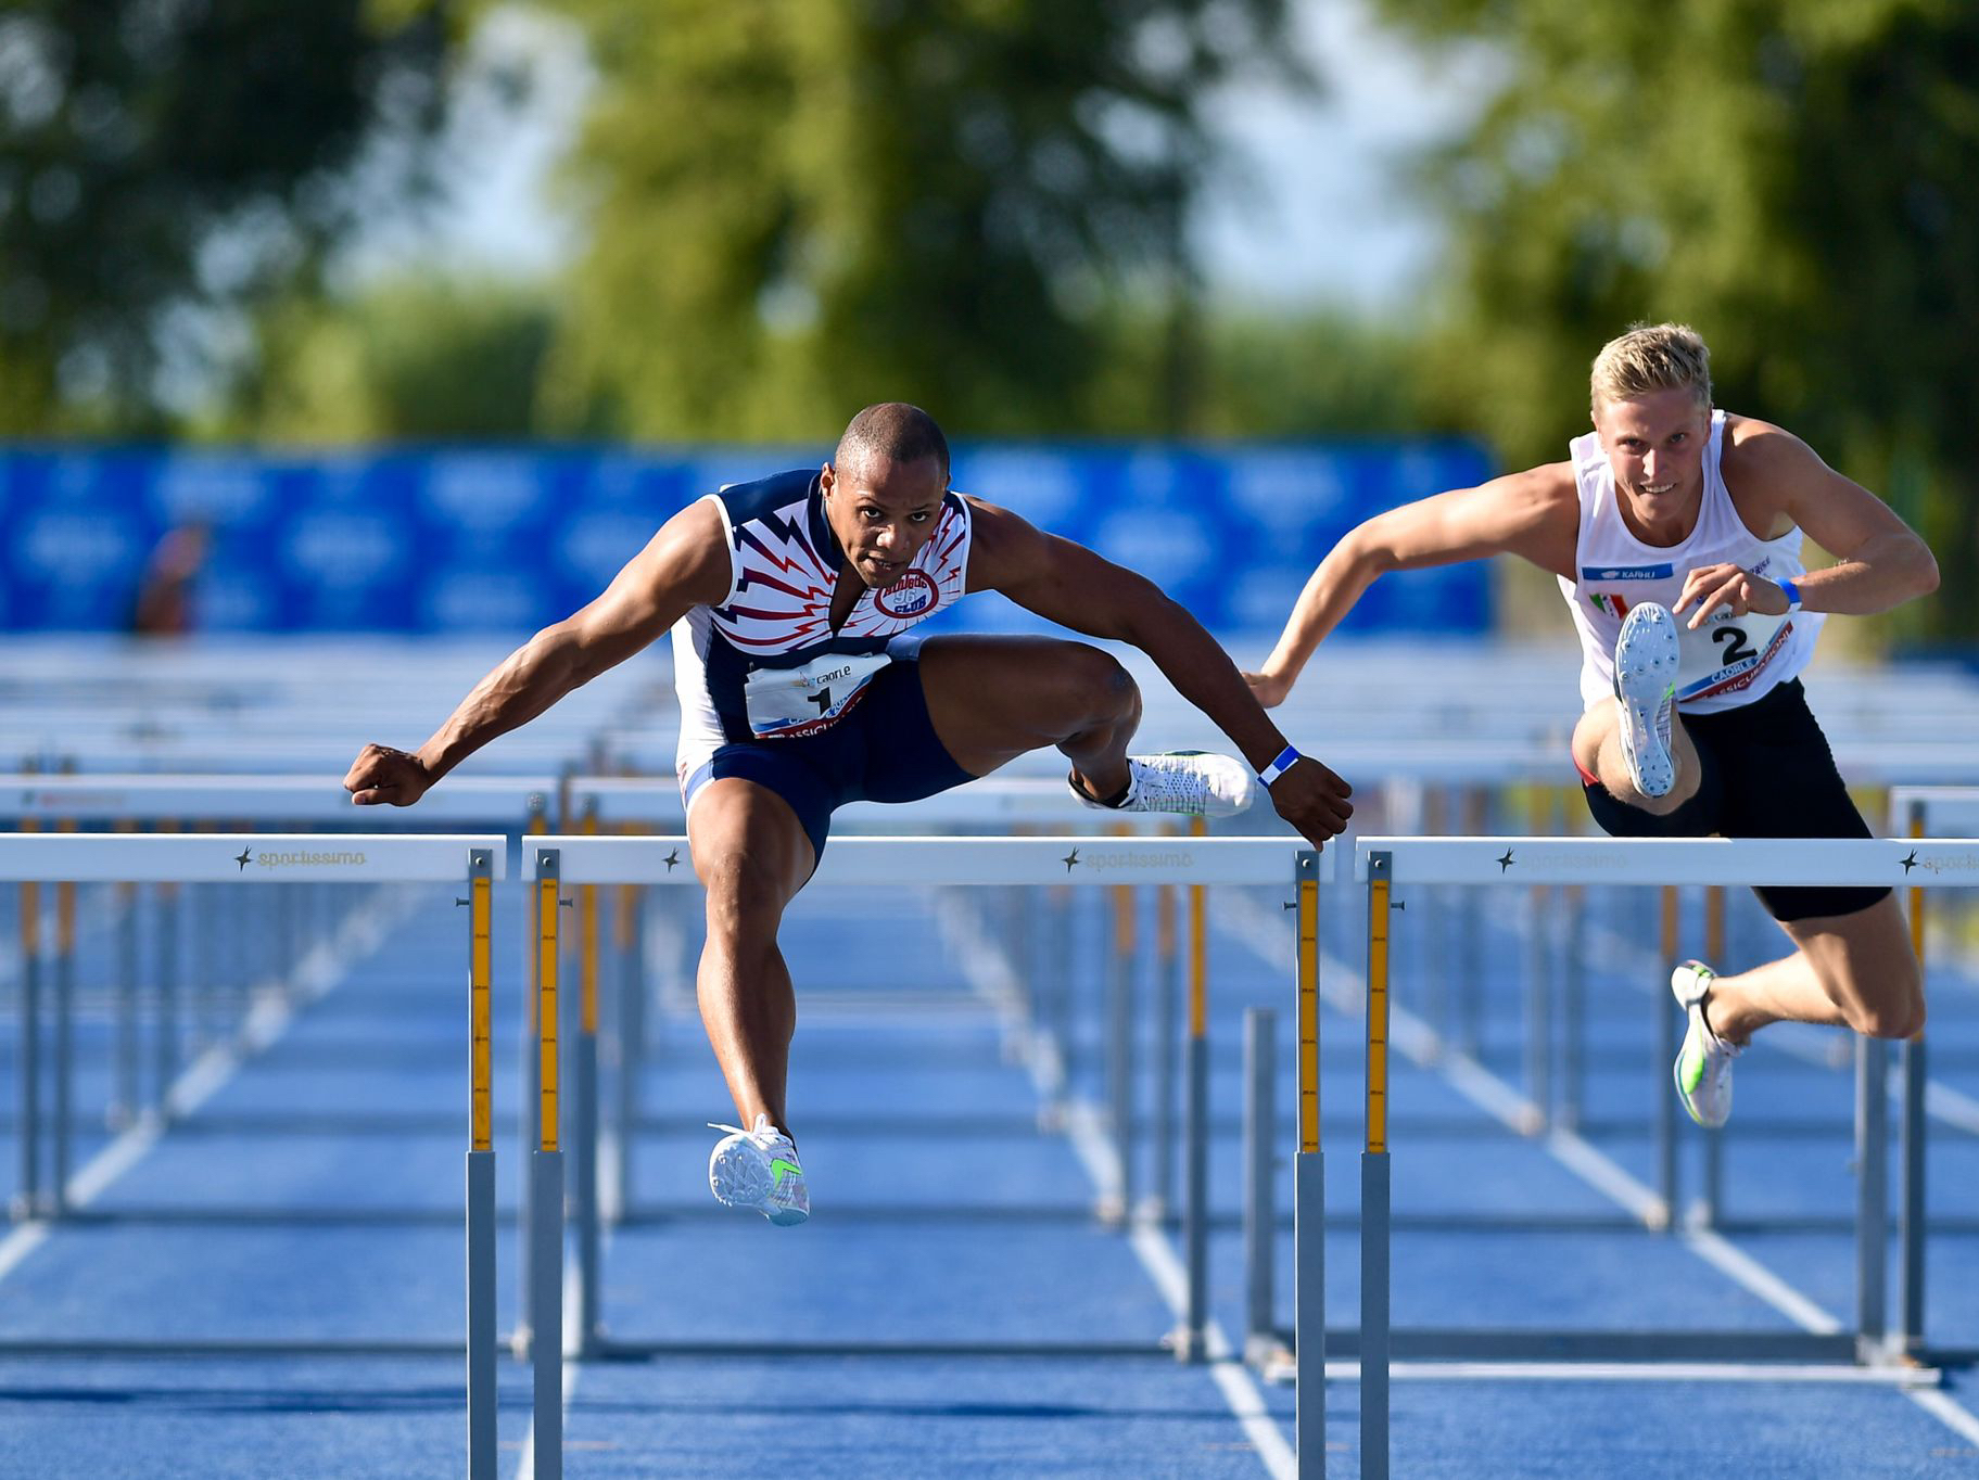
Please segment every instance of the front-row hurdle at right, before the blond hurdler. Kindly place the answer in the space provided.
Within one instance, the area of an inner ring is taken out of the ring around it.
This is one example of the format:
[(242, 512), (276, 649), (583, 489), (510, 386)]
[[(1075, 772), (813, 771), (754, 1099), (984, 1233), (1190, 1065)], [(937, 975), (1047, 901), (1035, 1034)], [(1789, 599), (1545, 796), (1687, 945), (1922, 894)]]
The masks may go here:
[[(1561, 839), (1561, 837), (1364, 837), (1356, 845), (1354, 879), (1367, 886), (1367, 1128), (1362, 1154), (1362, 1474), (1385, 1476), (1389, 1456), (1387, 1383), (1391, 1326), (1387, 1310), (1391, 1199), (1387, 1144), (1387, 968), (1389, 912), (1395, 890), (1413, 886), (1526, 888), (1534, 884), (1888, 884), (1894, 888), (1969, 888), (1979, 884), (1979, 841), (1941, 839)], [(1864, 1161), (1880, 1144), (1862, 1142)], [(1864, 1167), (1864, 1183), (1878, 1175)], [(1837, 1338), (1809, 1330), (1801, 1341), (1773, 1343), (1777, 1355), (1805, 1349), (1813, 1361), (1852, 1369), (1880, 1353), (1884, 1229), (1862, 1201), (1858, 1219), (1858, 1332)], [(1294, 1239), (1316, 1237), (1300, 1227)], [(1304, 1249), (1298, 1258), (1304, 1260)], [(1300, 1312), (1304, 1314), (1304, 1312)], [(1294, 1343), (1302, 1330), (1294, 1328)], [(1842, 1338), (1846, 1341), (1846, 1338)], [(1852, 1361), (1838, 1359), (1852, 1351)], [(1890, 1367), (1904, 1385), (1933, 1373)], [(1304, 1456), (1300, 1472), (1306, 1474)], [(1316, 1474), (1316, 1470), (1312, 1470)]]

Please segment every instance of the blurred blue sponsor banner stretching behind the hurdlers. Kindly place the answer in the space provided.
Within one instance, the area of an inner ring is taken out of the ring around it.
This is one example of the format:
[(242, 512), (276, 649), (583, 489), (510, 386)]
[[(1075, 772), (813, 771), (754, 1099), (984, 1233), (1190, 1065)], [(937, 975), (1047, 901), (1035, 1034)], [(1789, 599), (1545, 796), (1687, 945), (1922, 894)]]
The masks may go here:
[[(669, 514), (825, 447), (0, 451), (0, 627), (127, 629), (170, 530), (202, 526), (200, 631), (526, 633), (590, 601)], [(1354, 524), (1490, 477), (1461, 441), (978, 443), (954, 485), (1130, 566), (1219, 631), (1284, 621)], [(942, 625), (1023, 629), (999, 598)], [(1482, 564), (1405, 572), (1346, 631), (1480, 633)]]

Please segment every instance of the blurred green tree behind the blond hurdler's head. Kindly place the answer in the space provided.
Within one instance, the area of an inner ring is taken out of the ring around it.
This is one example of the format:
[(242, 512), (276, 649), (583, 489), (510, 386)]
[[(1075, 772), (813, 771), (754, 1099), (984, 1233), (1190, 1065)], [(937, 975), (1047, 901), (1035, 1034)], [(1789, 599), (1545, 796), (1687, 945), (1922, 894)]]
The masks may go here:
[(1979, 635), (1979, 8), (1957, 0), (1381, 0), (1506, 85), (1429, 180), (1453, 224), (1441, 394), (1514, 461), (1585, 423), (1633, 321), (1712, 344), (1932, 540), (1906, 615)]

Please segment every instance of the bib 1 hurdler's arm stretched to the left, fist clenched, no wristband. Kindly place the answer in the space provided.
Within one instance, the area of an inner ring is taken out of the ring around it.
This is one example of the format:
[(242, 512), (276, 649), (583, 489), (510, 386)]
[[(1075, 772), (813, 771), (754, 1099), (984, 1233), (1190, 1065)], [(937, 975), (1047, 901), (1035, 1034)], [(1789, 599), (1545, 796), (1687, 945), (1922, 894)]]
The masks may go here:
[(623, 663), (689, 607), (720, 601), (728, 582), (722, 518), (697, 501), (669, 518), (598, 600), (538, 631), (477, 683), (424, 746), (414, 752), (364, 746), (344, 776), (350, 799), (410, 807), (489, 740)]

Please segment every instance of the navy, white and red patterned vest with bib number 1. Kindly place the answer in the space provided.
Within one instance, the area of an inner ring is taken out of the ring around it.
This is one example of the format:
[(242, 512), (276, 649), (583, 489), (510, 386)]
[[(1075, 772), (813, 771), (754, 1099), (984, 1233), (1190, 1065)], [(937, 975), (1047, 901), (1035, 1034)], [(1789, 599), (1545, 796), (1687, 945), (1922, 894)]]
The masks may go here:
[(683, 784), (722, 744), (837, 724), (891, 661), (887, 645), (956, 603), (970, 564), (970, 507), (950, 493), (906, 574), (861, 592), (833, 633), (841, 550), (817, 473), (778, 473), (707, 497), (722, 514), (732, 576), (718, 605), (697, 605), (673, 625)]

